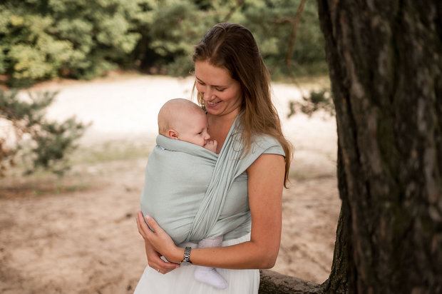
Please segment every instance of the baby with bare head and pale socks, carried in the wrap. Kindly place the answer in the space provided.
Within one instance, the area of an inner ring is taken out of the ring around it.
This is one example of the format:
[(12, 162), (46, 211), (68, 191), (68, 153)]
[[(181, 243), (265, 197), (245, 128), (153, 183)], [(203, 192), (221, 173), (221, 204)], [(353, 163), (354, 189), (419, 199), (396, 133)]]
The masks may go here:
[[(193, 143), (215, 153), (217, 141), (210, 140), (207, 127), (207, 116), (202, 108), (184, 98), (175, 98), (166, 102), (158, 113), (160, 135)], [(216, 238), (205, 238), (198, 242), (198, 248), (220, 247), (221, 245), (222, 235)], [(215, 268), (196, 266), (195, 279), (215, 288), (227, 288), (227, 281), (217, 273)]]

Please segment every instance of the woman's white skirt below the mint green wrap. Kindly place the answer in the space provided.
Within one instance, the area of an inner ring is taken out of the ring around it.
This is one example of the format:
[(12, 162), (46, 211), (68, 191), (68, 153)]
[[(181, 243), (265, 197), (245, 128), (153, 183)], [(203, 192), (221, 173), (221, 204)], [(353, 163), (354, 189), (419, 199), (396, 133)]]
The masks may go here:
[[(235, 245), (250, 240), (250, 234), (222, 242), (222, 246)], [(195, 248), (195, 243), (185, 243), (180, 247)], [(227, 280), (227, 288), (220, 290), (195, 280), (194, 265), (183, 265), (163, 275), (146, 266), (134, 294), (257, 294), (259, 270), (228, 270), (217, 268), (217, 272)]]

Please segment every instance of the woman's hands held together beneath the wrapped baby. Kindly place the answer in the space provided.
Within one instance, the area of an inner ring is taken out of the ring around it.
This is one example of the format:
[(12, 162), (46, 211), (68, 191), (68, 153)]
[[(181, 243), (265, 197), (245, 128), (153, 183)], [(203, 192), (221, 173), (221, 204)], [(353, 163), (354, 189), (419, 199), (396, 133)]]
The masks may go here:
[[(146, 225), (143, 219), (143, 213), (138, 212), (138, 218), (136, 220), (138, 232), (145, 240), (145, 251), (148, 257), (148, 265), (159, 273), (168, 273), (171, 270), (180, 267), (180, 256), (183, 255), (180, 251), (183, 251), (183, 249), (175, 246), (172, 238), (160, 228), (153, 218), (146, 217), (146, 221), (149, 223), (150, 228), (155, 230), (154, 232), (150, 230), (148, 225)], [(170, 262), (165, 262), (161, 259), (161, 255)]]

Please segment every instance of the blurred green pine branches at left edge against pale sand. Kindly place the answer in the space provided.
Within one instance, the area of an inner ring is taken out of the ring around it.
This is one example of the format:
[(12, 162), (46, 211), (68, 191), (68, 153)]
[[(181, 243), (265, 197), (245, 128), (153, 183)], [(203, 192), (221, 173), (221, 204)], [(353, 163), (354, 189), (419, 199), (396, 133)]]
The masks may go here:
[(0, 137), (0, 176), (14, 166), (15, 156), (22, 151), (25, 173), (38, 168), (62, 175), (68, 168), (66, 156), (77, 146), (87, 126), (76, 118), (58, 123), (46, 121), (44, 110), (53, 102), (56, 92), (29, 93), (29, 99), (19, 98), (18, 91), (0, 91), (0, 122), (10, 126)]

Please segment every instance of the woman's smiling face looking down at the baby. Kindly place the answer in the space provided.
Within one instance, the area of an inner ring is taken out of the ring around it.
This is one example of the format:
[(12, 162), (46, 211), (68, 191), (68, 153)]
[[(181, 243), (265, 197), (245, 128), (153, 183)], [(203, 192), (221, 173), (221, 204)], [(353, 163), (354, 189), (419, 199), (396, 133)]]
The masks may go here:
[(212, 116), (236, 116), (240, 112), (242, 91), (240, 82), (227, 69), (212, 66), (208, 61), (195, 62), (197, 91), (204, 98), (207, 113)]

